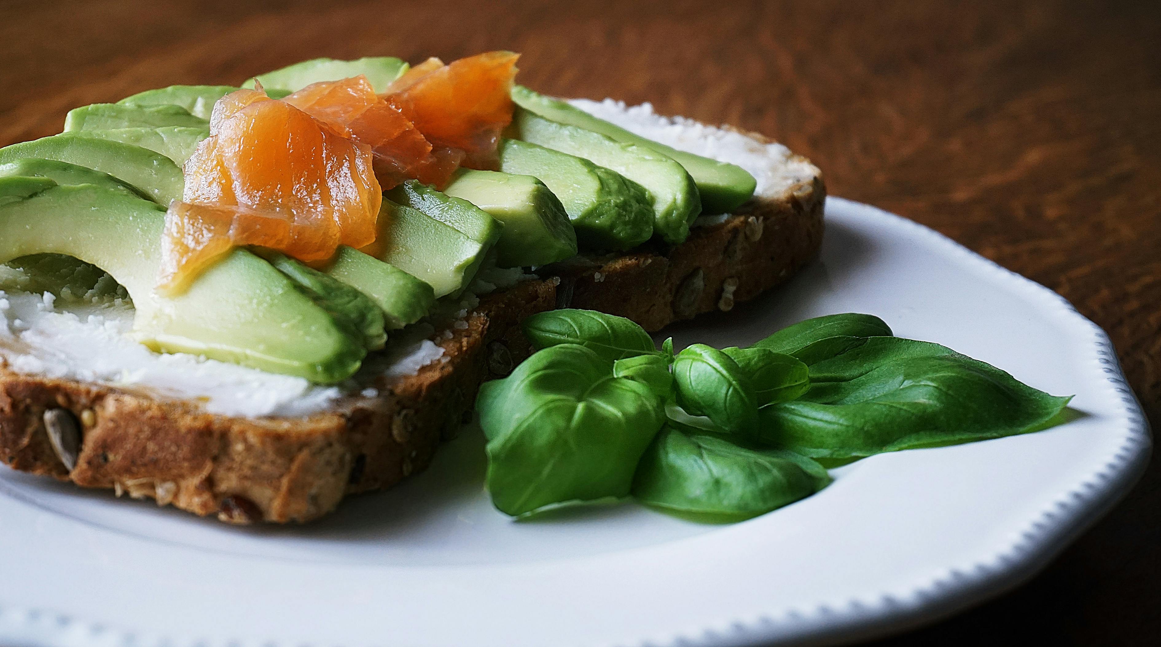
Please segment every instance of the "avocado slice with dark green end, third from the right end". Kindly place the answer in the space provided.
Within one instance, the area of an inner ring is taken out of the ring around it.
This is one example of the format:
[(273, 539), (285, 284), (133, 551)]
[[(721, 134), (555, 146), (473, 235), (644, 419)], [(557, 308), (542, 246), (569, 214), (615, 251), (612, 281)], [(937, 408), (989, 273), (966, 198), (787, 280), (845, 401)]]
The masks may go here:
[(500, 171), (532, 175), (560, 199), (580, 249), (635, 247), (652, 236), (652, 204), (646, 189), (615, 171), (519, 139), (503, 139)]

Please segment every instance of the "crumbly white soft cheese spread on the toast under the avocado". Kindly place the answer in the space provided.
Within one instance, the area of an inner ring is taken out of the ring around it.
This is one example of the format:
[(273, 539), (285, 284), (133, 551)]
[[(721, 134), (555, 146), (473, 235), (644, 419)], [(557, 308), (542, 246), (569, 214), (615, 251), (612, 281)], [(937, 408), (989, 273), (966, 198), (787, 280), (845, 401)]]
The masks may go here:
[[(763, 144), (722, 128), (657, 115), (649, 103), (626, 107), (612, 99), (600, 102), (577, 99), (572, 103), (675, 149), (736, 164), (755, 177), (756, 193), (762, 196), (778, 196), (819, 174), (814, 165), (793, 159), (781, 144)], [(489, 288), (503, 288), (527, 278), (531, 276), (515, 269), (497, 271), (481, 276), (469, 292), (484, 294)], [(207, 411), (221, 415), (303, 416), (325, 411), (347, 393), (374, 396), (374, 389), (360, 389), (359, 378), (414, 375), (444, 355), (444, 348), (427, 338), (434, 333), (433, 329), (412, 330), (390, 340), (387, 353), (368, 358), (352, 384), (323, 387), (302, 378), (190, 354), (154, 353), (130, 336), (134, 310), (125, 303), (99, 300), (74, 305), (70, 301), (65, 309), (55, 301), (49, 293), (0, 292), (0, 357), (12, 371), (196, 401)], [(462, 318), (467, 310), (456, 314)]]

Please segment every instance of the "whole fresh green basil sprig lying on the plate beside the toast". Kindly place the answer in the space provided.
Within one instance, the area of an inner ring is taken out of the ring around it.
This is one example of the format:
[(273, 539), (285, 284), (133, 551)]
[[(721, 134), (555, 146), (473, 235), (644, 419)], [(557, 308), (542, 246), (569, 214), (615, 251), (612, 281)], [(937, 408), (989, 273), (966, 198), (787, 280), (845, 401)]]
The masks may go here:
[[(639, 325), (590, 310), (525, 321), (541, 348), (481, 388), (488, 490), (522, 516), (632, 495), (741, 520), (830, 482), (823, 465), (1025, 433), (1069, 398), (860, 314), (808, 319), (748, 348), (658, 352)], [(630, 490), (632, 486), (632, 490)]]

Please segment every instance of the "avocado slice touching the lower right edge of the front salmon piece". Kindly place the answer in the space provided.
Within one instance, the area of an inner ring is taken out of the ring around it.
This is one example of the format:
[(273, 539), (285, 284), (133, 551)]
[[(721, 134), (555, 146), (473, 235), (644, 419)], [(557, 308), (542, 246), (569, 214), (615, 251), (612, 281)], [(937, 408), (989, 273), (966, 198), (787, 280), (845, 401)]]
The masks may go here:
[(426, 282), (438, 299), (462, 292), (490, 247), (418, 209), (384, 197), (378, 236), (360, 251)]

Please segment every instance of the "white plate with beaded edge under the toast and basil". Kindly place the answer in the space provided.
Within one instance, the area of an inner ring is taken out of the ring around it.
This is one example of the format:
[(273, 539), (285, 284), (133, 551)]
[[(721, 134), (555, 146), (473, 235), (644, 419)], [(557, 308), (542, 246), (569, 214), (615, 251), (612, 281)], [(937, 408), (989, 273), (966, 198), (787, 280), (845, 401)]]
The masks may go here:
[(1053, 394), (1063, 426), (877, 455), (750, 522), (643, 508), (513, 523), (466, 431), (432, 468), (305, 527), (236, 529), (0, 472), (0, 644), (751, 645), (867, 637), (1034, 573), (1127, 489), (1149, 437), (1108, 337), (1052, 292), (915, 223), (831, 199), (822, 260), (680, 345), (872, 312)]

